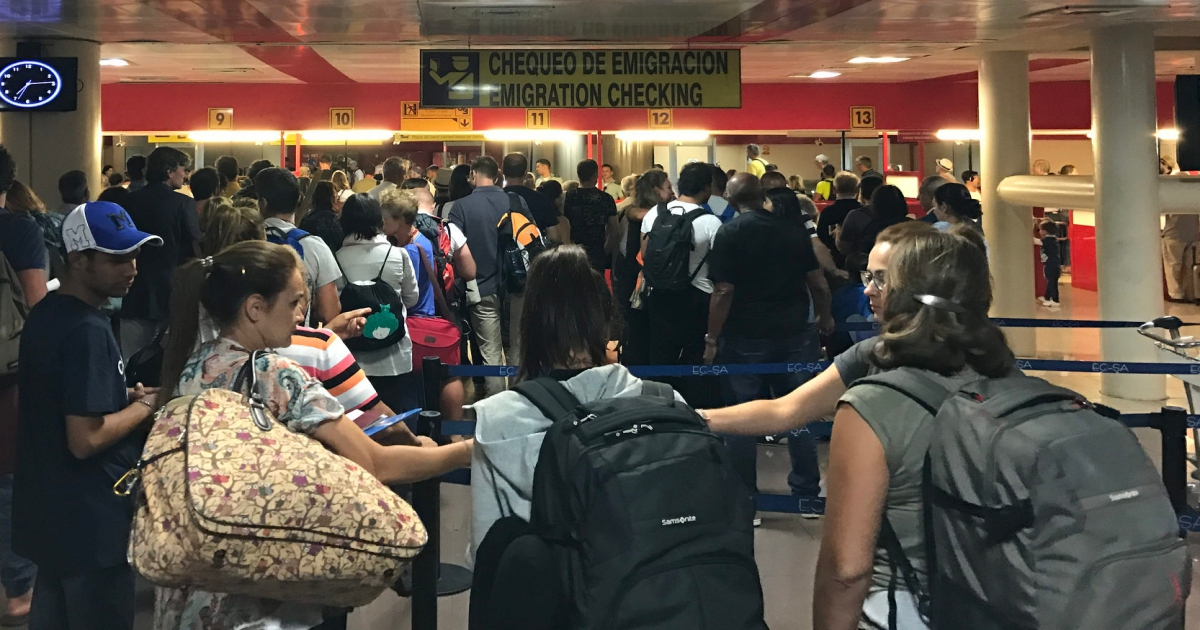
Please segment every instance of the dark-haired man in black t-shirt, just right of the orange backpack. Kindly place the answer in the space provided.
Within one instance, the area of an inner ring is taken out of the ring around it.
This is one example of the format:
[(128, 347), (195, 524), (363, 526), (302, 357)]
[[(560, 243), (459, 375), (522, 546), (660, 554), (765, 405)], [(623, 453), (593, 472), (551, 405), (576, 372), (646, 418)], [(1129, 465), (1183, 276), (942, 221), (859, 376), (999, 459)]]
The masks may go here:
[(571, 242), (588, 251), (592, 268), (604, 274), (608, 266), (608, 254), (617, 248), (620, 226), (617, 223), (617, 202), (596, 188), (600, 164), (595, 160), (583, 160), (575, 169), (580, 187), (566, 193), (563, 216), (571, 223)]

